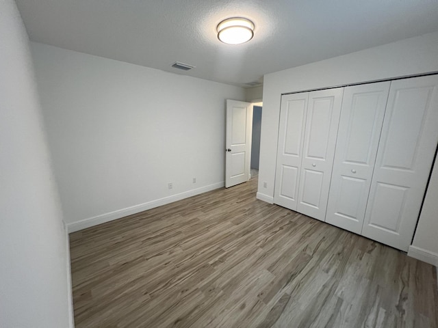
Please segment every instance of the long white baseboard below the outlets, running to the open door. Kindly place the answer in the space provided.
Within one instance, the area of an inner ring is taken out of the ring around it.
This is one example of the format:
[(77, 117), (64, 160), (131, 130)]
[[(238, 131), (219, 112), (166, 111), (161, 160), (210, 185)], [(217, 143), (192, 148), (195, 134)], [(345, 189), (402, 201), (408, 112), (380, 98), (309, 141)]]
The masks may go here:
[(209, 184), (208, 186), (192, 189), (189, 191), (184, 191), (183, 193), (177, 193), (176, 195), (171, 195), (168, 197), (160, 198), (159, 200), (152, 200), (151, 202), (146, 202), (143, 204), (134, 205), (127, 208), (122, 208), (121, 210), (115, 210), (114, 212), (105, 213), (102, 215), (97, 215), (96, 217), (90, 217), (88, 219), (82, 219), (80, 221), (72, 222), (67, 224), (68, 233), (79, 231), (82, 229), (90, 228), (92, 226), (97, 226), (98, 224), (120, 219), (122, 217), (127, 217), (128, 215), (133, 215), (136, 213), (143, 212), (144, 210), (150, 210), (158, 206), (170, 204), (172, 202), (177, 202), (177, 200), (183, 200), (184, 198), (199, 195), (201, 193), (206, 193), (207, 191), (212, 191), (214, 189), (222, 188), (225, 186), (225, 182), (217, 182), (214, 184)]

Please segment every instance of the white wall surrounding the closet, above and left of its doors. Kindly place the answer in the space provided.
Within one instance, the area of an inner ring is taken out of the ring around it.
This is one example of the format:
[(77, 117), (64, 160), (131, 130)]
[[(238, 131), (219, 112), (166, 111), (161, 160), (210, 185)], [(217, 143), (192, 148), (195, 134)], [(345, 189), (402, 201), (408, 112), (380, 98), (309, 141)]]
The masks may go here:
[[(437, 58), (438, 32), (434, 32), (265, 75), (257, 197), (273, 201), (282, 93), (438, 72)], [(267, 188), (263, 188), (263, 182)], [(438, 213), (438, 203), (433, 205)], [(424, 240), (428, 236), (417, 230), (415, 238)], [(437, 245), (437, 238), (432, 243)]]

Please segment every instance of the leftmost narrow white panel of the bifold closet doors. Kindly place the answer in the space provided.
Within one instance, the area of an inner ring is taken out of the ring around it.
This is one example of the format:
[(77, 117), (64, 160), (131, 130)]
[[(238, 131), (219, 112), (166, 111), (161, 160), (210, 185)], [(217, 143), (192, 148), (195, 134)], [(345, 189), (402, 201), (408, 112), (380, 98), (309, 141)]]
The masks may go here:
[(274, 203), (296, 210), (309, 92), (281, 96)]

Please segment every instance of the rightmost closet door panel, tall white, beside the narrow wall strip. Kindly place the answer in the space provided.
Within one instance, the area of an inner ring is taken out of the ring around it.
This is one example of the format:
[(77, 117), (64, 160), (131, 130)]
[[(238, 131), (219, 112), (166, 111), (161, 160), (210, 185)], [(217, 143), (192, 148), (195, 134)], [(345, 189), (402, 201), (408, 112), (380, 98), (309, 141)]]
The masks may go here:
[(407, 251), (438, 142), (438, 77), (393, 81), (362, 234)]

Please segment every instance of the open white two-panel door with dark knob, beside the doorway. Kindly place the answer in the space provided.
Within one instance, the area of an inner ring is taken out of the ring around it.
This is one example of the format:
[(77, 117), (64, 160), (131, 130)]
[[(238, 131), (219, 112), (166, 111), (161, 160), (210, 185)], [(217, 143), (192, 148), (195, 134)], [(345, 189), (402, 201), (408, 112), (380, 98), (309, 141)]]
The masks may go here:
[(246, 182), (250, 177), (251, 104), (227, 100), (225, 187)]

